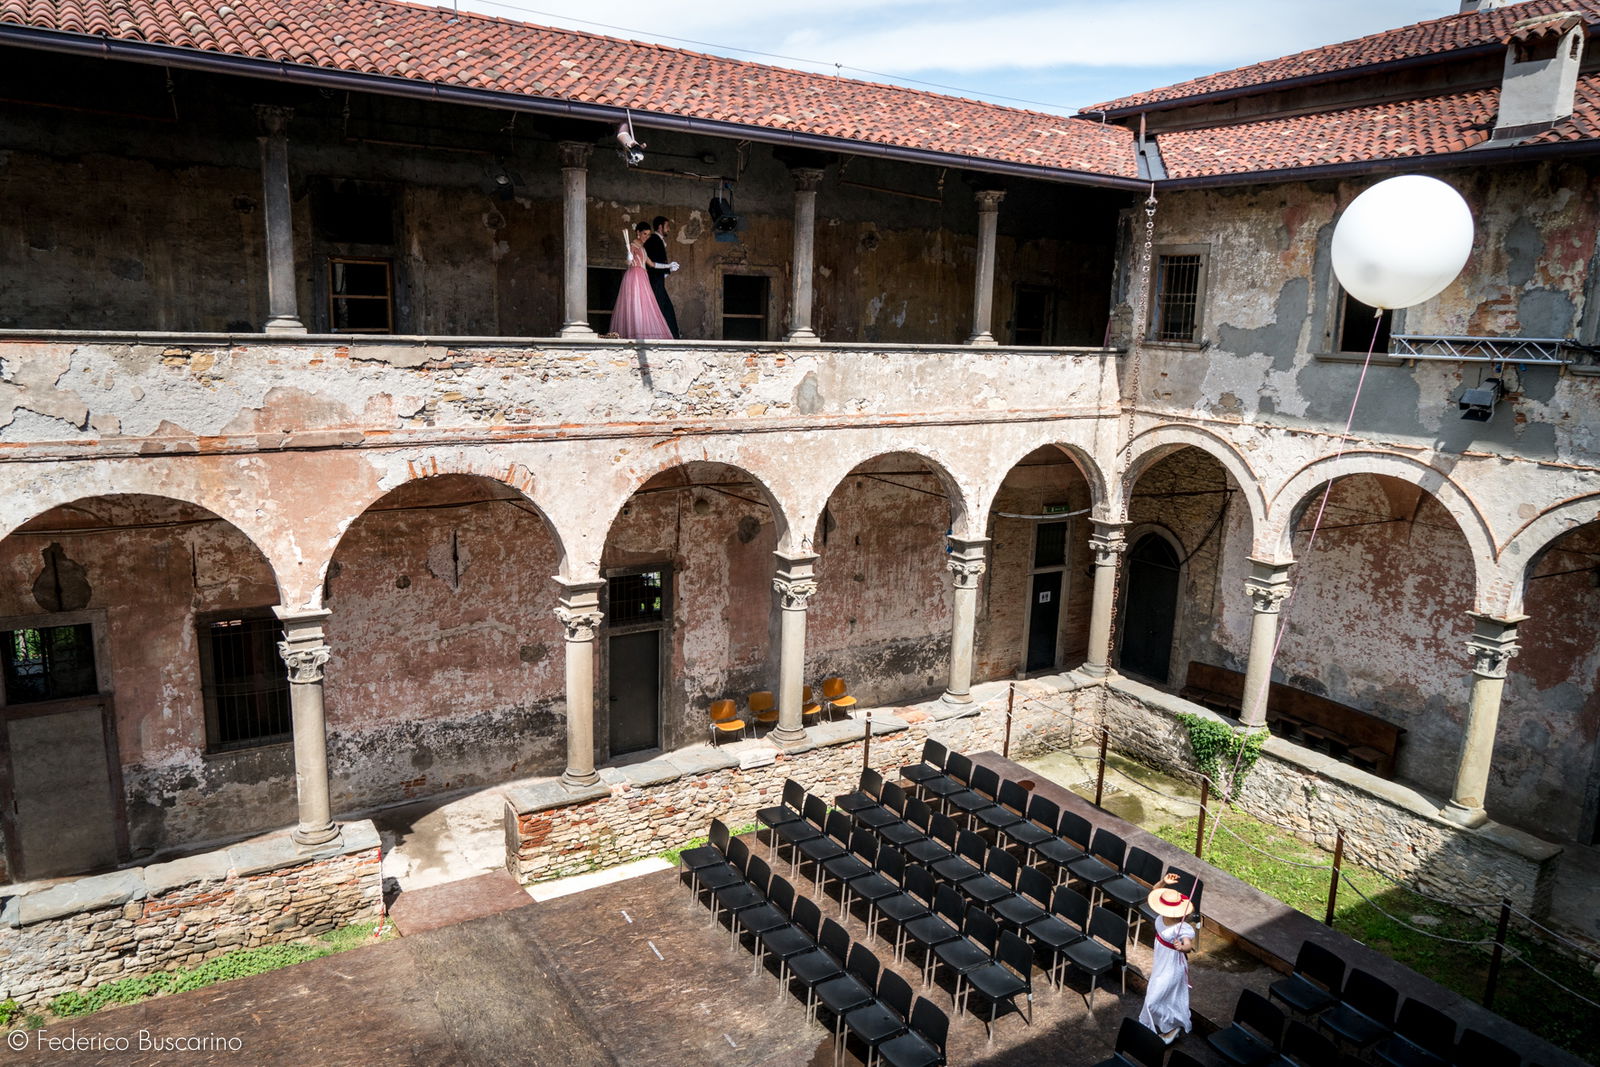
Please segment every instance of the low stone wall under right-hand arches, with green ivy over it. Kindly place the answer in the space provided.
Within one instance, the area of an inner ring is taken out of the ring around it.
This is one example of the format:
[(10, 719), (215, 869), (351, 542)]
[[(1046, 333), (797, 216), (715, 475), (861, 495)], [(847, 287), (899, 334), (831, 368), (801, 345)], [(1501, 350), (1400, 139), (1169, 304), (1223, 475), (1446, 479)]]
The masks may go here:
[[(1194, 777), (1189, 731), (1179, 712), (1211, 712), (1136, 681), (1106, 688), (1104, 723), (1118, 752), (1179, 777)], [(1237, 800), (1250, 814), (1333, 848), (1344, 830), (1344, 856), (1422, 891), (1458, 901), (1502, 896), (1544, 915), (1560, 848), (1506, 825), (1475, 830), (1446, 822), (1442, 800), (1384, 781), (1277, 737), (1267, 741)]]

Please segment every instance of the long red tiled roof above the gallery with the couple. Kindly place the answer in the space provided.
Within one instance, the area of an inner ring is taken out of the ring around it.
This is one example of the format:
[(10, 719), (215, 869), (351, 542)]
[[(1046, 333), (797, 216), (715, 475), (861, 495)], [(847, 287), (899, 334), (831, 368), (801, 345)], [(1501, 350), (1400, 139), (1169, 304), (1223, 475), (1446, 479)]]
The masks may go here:
[(395, 0), (0, 0), (0, 24), (1118, 178), (1114, 125)]

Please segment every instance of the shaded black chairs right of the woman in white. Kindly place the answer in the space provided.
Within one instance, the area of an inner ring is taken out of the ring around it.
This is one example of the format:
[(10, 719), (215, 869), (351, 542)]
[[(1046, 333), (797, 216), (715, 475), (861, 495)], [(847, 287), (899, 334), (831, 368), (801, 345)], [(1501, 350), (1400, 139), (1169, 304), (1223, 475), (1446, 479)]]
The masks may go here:
[[(1296, 1041), (1306, 1067), (1333, 1064), (1333, 1045), (1310, 1032), (1299, 1021), (1288, 1021), (1270, 1001), (1282, 1001), (1296, 1016), (1315, 1022), (1328, 1035), (1355, 1049), (1371, 1049), (1371, 1056), (1390, 1067), (1518, 1067), (1522, 1056), (1501, 1041), (1467, 1027), (1458, 1038), (1458, 1024), (1448, 1014), (1414, 997), (1400, 1000), (1394, 985), (1362, 968), (1346, 968), (1344, 960), (1314, 941), (1299, 947), (1294, 969), (1267, 989), (1267, 997), (1253, 990), (1240, 993), (1232, 1032), (1213, 1035), (1232, 1054), (1218, 1046), (1235, 1064), (1254, 1067), (1282, 1043)], [(1315, 1038), (1315, 1040), (1312, 1040)], [(1328, 1053), (1317, 1049), (1317, 1040)]]

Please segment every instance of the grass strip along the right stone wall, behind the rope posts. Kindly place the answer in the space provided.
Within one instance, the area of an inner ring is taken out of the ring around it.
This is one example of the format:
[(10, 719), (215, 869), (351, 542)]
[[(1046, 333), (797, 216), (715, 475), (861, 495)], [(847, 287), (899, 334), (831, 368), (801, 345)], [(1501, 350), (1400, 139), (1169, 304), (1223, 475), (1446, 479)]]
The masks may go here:
[[(1150, 832), (1182, 849), (1192, 849), (1195, 819), (1162, 825)], [(1307, 845), (1240, 811), (1229, 811), (1224, 816), (1222, 833), (1216, 833), (1211, 825), (1206, 827), (1205, 853), (1205, 861), (1213, 867), (1229, 872), (1306, 915), (1317, 920), (1326, 917), (1331, 873), (1294, 865), (1326, 865), (1333, 861), (1330, 853), (1315, 845)], [(1262, 853), (1270, 853), (1270, 856)], [(1368, 904), (1362, 894), (1370, 897), (1373, 904)], [(1390, 920), (1384, 912), (1403, 921)], [(1419, 918), (1421, 921), (1418, 921)], [(1490, 969), (1490, 949), (1454, 944), (1440, 937), (1493, 941), (1498, 918), (1498, 912), (1464, 912), (1419, 897), (1397, 888), (1379, 873), (1346, 862), (1333, 926), (1418, 974), (1430, 977), (1467, 1000), (1482, 1003)], [(1515, 957), (1522, 955), (1555, 982), (1589, 1000), (1600, 1000), (1600, 981), (1579, 961), (1560, 955), (1549, 945), (1518, 934), (1515, 929), (1507, 936), (1506, 944), (1507, 952), (1494, 993), (1494, 1011), (1552, 1045), (1560, 1045), (1570, 1053), (1590, 1059), (1594, 1049), (1600, 1048), (1600, 1013), (1595, 1013), (1578, 997), (1562, 992), (1550, 981), (1539, 977)]]

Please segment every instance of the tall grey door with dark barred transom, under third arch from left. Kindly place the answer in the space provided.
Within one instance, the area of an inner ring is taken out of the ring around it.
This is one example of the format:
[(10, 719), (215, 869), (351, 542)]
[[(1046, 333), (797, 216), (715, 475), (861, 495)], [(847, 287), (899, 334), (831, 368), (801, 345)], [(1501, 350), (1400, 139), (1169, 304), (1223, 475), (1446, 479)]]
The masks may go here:
[(610, 745), (613, 757), (661, 747), (661, 635), (670, 617), (667, 568), (606, 579)]

